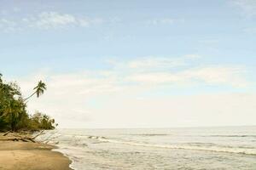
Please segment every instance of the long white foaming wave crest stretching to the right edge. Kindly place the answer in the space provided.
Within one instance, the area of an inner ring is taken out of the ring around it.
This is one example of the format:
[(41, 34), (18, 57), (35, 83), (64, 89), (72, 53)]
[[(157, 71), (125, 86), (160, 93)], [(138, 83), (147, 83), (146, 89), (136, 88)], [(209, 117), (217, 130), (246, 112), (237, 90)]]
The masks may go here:
[(105, 137), (98, 137), (102, 142), (109, 142), (115, 144), (129, 144), (134, 146), (142, 146), (142, 147), (154, 147), (154, 148), (165, 148), (165, 149), (177, 149), (177, 150), (204, 150), (204, 151), (213, 151), (213, 152), (226, 152), (226, 153), (236, 153), (236, 154), (245, 154), (245, 155), (256, 155), (256, 148), (235, 148), (231, 146), (199, 146), (199, 145), (183, 145), (183, 144), (146, 144), (142, 142), (135, 141), (123, 141), (118, 139), (107, 139)]

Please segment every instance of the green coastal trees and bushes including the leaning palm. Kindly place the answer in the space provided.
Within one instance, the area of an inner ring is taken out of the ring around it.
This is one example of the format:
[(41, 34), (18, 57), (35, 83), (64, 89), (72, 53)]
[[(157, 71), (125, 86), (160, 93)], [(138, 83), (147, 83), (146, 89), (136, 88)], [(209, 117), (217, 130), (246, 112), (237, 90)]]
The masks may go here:
[(50, 116), (39, 111), (31, 115), (26, 110), (29, 99), (34, 95), (39, 98), (46, 89), (46, 84), (39, 81), (33, 93), (23, 98), (18, 84), (3, 81), (0, 74), (0, 132), (54, 129), (57, 124)]

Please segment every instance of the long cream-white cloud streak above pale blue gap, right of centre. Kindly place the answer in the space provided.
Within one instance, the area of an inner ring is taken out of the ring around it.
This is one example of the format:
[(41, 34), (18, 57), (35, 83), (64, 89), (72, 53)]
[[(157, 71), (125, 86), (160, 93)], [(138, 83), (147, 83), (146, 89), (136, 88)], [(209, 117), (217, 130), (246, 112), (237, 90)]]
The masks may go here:
[(239, 67), (209, 66), (174, 72), (147, 72), (131, 75), (127, 80), (144, 84), (187, 84), (207, 83), (209, 85), (229, 85), (235, 88), (247, 87), (242, 77), (244, 70)]

